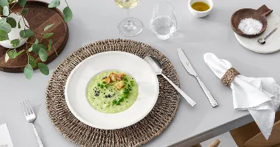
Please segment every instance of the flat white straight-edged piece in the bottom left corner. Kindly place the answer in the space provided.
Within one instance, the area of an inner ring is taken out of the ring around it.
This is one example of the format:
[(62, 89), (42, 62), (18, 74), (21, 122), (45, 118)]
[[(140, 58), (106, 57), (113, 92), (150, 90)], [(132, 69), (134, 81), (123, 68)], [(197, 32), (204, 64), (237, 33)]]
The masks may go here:
[(5, 124), (0, 125), (0, 146), (13, 147), (12, 139), (10, 139), (10, 133), (8, 127)]

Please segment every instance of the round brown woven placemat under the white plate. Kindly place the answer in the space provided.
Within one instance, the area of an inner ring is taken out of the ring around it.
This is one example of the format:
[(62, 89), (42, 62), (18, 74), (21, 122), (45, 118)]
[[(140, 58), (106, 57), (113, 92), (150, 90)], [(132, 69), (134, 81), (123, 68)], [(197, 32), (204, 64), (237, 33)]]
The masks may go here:
[(162, 63), (163, 73), (179, 86), (179, 76), (172, 63), (157, 49), (133, 40), (102, 40), (73, 52), (52, 73), (46, 90), (48, 116), (56, 129), (78, 146), (141, 146), (165, 130), (179, 105), (179, 93), (162, 76), (158, 76), (160, 95), (155, 107), (141, 121), (123, 129), (100, 130), (85, 125), (71, 114), (66, 105), (64, 87), (73, 68), (87, 57), (107, 51), (129, 52), (142, 59), (147, 55), (155, 56)]

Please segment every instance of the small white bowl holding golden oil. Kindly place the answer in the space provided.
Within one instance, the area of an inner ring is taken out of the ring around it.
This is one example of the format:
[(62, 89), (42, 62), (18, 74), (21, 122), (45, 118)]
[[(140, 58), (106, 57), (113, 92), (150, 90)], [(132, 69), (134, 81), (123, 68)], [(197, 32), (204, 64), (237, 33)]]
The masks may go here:
[[(205, 11), (198, 11), (192, 8), (193, 3), (197, 2), (197, 1), (202, 1), (204, 3), (207, 3), (210, 8), (208, 10)], [(207, 15), (210, 14), (212, 8), (214, 6), (214, 3), (212, 0), (189, 0), (188, 1), (188, 9), (190, 10), (190, 13), (192, 13), (192, 15), (194, 15), (195, 17), (206, 17)]]

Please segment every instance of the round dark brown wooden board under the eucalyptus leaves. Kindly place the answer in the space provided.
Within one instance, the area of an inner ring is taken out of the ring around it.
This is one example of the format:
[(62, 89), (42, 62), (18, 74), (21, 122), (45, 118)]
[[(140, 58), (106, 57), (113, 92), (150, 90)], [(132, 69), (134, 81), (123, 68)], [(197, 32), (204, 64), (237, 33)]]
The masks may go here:
[[(68, 26), (66, 22), (64, 22), (64, 15), (57, 8), (48, 8), (48, 3), (42, 1), (27, 1), (25, 8), (29, 9), (29, 12), (25, 15), (25, 19), (29, 23), (29, 26), (32, 31), (36, 33), (43, 33), (43, 29), (48, 24), (54, 25), (46, 31), (46, 33), (54, 33), (50, 38), (52, 39), (52, 49), (48, 52), (48, 60), (45, 61), (45, 64), (53, 61), (57, 54), (60, 54), (64, 49), (66, 42), (68, 40), (69, 32)], [(13, 12), (20, 12), (22, 7), (15, 6), (13, 8)], [(28, 42), (35, 42), (35, 39), (41, 39), (42, 36), (36, 34), (31, 36), (28, 39)], [(48, 47), (48, 39), (44, 39), (41, 43)], [(28, 48), (31, 45), (28, 45)], [(54, 48), (57, 51), (55, 53)], [(22, 45), (17, 49), (19, 52), (22, 49), (25, 49), (26, 45)], [(25, 69), (25, 65), (27, 65), (27, 54), (24, 52), (20, 54), (16, 59), (9, 59), (7, 63), (5, 63), (5, 54), (7, 49), (0, 46), (0, 70), (4, 72), (23, 72)], [(38, 55), (31, 53), (32, 56), (36, 59), (37, 62), (41, 62)]]

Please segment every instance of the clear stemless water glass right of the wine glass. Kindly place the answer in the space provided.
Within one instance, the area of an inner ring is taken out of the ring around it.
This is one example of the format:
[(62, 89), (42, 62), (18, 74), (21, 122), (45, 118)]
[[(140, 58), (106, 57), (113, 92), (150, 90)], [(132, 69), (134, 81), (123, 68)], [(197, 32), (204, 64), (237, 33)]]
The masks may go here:
[(167, 40), (176, 32), (177, 22), (173, 6), (168, 2), (160, 2), (153, 9), (150, 29), (161, 40)]

